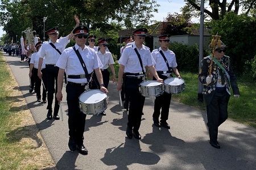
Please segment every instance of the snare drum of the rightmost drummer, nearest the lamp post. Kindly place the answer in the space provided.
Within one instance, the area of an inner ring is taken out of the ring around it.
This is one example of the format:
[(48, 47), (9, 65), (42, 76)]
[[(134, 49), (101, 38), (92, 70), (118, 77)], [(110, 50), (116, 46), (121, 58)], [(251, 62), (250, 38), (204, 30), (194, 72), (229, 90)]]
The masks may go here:
[(185, 82), (179, 78), (168, 78), (164, 80), (164, 91), (168, 94), (179, 94), (185, 90)]

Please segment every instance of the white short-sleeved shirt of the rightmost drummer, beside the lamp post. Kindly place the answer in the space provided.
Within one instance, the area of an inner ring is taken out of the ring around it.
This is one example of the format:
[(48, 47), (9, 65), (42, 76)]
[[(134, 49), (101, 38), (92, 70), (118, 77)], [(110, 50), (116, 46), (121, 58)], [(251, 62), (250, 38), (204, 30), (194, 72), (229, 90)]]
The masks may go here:
[[(162, 50), (162, 48), (160, 47), (159, 49), (155, 49), (152, 51), (152, 56), (155, 59), (155, 70), (156, 71), (168, 71), (168, 67), (166, 64), (166, 61), (164, 61), (163, 56), (161, 55), (161, 53), (159, 52), (159, 50)], [(170, 49), (167, 49), (166, 52), (164, 52), (162, 50), (164, 56), (167, 59), (168, 65), (170, 67), (177, 67), (177, 63), (176, 63), (176, 57), (175, 57), (175, 53), (172, 52)]]

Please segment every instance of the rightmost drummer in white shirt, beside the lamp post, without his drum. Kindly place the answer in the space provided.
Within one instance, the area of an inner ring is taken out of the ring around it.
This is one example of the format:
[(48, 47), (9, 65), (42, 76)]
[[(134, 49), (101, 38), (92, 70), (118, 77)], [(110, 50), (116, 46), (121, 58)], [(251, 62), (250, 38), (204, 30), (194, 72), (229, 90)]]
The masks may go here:
[[(177, 63), (174, 52), (168, 49), (170, 45), (170, 35), (162, 35), (159, 36), (158, 40), (160, 44), (159, 49), (155, 49), (152, 51), (152, 56), (155, 59), (155, 70), (158, 73), (159, 77), (163, 80), (167, 79), (170, 74), (171, 70), (174, 70), (176, 76), (180, 79), (181, 76), (179, 71), (177, 70)], [(156, 80), (153, 78), (153, 80)], [(164, 127), (170, 129), (170, 125), (167, 124), (168, 115), (169, 115), (169, 108), (171, 103), (171, 94), (167, 92), (163, 92), (163, 95), (155, 97), (155, 105), (154, 105), (154, 113), (153, 113), (153, 122), (154, 125), (157, 127)], [(160, 112), (160, 109), (161, 112)], [(160, 122), (159, 122), (159, 116)]]

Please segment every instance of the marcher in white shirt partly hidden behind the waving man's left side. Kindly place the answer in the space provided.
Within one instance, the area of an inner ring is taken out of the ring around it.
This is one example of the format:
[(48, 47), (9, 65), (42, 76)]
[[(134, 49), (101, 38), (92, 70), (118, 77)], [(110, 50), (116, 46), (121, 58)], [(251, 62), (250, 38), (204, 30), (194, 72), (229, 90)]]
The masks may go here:
[[(35, 48), (37, 51), (39, 51), (41, 45), (43, 44), (43, 41), (39, 41), (38, 43), (36, 43), (35, 45)], [(36, 98), (38, 102), (41, 101), (41, 83), (43, 81), (43, 103), (47, 103), (47, 100), (46, 100), (46, 97), (47, 97), (47, 94), (46, 94), (46, 89), (47, 89), (47, 80), (46, 80), (46, 64), (44, 63), (44, 60), (43, 60), (43, 63), (42, 63), (42, 67), (41, 67), (41, 71), (42, 71), (42, 79), (39, 79), (39, 76), (38, 76), (38, 62), (39, 62), (39, 56), (37, 55), (37, 52), (36, 53), (33, 53), (32, 56), (31, 56), (31, 60), (30, 60), (30, 78), (31, 76), (34, 76), (34, 79), (35, 79), (35, 86), (36, 86), (36, 89), (35, 89), (35, 92), (36, 92)]]

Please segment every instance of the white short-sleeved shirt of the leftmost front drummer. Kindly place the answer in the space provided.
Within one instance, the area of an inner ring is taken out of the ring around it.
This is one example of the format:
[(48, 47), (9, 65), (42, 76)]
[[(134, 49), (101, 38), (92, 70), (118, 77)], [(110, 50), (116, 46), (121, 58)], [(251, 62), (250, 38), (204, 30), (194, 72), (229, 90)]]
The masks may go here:
[[(79, 50), (79, 53), (81, 54), (81, 57), (84, 60), (88, 74), (92, 73), (94, 69), (103, 66), (100, 61), (100, 58), (98, 58), (97, 53), (93, 49), (89, 48), (88, 46), (85, 46), (84, 50), (82, 50), (81, 47), (77, 44), (75, 45), (75, 48)], [(77, 57), (76, 52), (75, 50), (73, 50), (72, 46), (63, 51), (63, 53), (60, 55), (59, 60), (56, 63), (56, 66), (60, 67), (60, 69), (65, 69), (67, 75), (85, 74), (84, 69), (82, 69), (81, 62), (79, 61), (79, 58)], [(73, 83), (88, 83), (86, 78), (67, 78), (67, 80)]]

